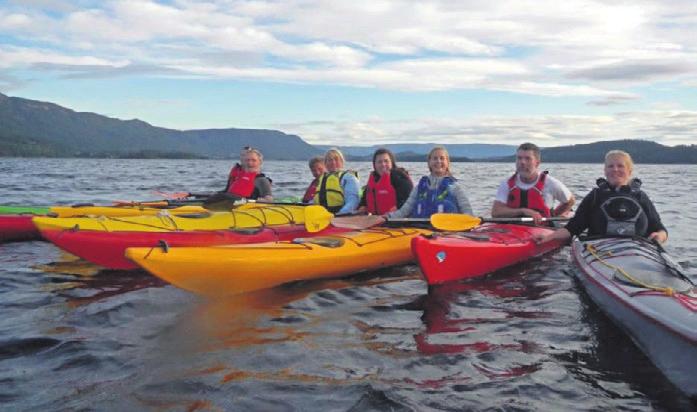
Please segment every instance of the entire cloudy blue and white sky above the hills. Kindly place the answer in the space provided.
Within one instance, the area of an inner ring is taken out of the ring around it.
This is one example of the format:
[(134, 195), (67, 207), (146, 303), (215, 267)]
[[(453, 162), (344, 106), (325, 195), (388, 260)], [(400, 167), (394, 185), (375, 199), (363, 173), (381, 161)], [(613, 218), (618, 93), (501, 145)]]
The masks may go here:
[(310, 143), (697, 143), (697, 1), (0, 0), (0, 92)]

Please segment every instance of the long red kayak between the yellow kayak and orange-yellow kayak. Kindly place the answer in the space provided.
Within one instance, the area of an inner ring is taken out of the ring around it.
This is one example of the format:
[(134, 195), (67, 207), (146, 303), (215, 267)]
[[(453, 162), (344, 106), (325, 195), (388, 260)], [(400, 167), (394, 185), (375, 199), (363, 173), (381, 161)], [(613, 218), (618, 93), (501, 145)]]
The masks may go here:
[(276, 225), (241, 230), (197, 230), (184, 232), (101, 232), (92, 230), (42, 230), (41, 235), (56, 246), (108, 269), (136, 269), (124, 257), (129, 247), (212, 246), (292, 240), (347, 232), (333, 226), (308, 233), (303, 225)]

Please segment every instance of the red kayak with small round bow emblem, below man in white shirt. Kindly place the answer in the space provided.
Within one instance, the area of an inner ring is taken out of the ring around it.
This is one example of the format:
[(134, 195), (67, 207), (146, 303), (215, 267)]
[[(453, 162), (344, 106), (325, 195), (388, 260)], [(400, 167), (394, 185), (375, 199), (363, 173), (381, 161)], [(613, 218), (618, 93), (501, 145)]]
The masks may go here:
[(532, 236), (555, 229), (486, 223), (468, 232), (417, 236), (411, 250), (429, 285), (469, 279), (555, 250), (564, 242), (536, 244)]

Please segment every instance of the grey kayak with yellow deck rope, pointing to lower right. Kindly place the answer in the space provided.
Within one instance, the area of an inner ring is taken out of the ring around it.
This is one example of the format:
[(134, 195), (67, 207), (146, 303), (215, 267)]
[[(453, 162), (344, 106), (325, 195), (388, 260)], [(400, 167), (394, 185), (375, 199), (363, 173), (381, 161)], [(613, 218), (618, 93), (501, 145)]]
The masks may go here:
[[(601, 259), (588, 250), (600, 251)], [(606, 255), (606, 253), (611, 255)], [(674, 385), (697, 396), (697, 293), (690, 281), (684, 293), (672, 296), (640, 286), (616, 268), (647, 284), (675, 282), (654, 245), (632, 239), (575, 240), (576, 276), (588, 296), (652, 360)], [(613, 267), (604, 263), (610, 263)], [(684, 288), (683, 288), (684, 289)]]

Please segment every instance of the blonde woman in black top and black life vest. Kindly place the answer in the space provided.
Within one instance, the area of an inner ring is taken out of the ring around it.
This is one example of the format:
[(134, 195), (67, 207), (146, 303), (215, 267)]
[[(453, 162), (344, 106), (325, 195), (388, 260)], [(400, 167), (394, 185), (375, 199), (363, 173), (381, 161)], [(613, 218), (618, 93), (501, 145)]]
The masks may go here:
[(663, 243), (668, 231), (661, 222), (641, 180), (632, 179), (634, 162), (629, 153), (611, 150), (605, 155), (605, 178), (583, 198), (566, 226), (535, 241), (567, 240), (588, 230), (590, 236), (641, 236)]

